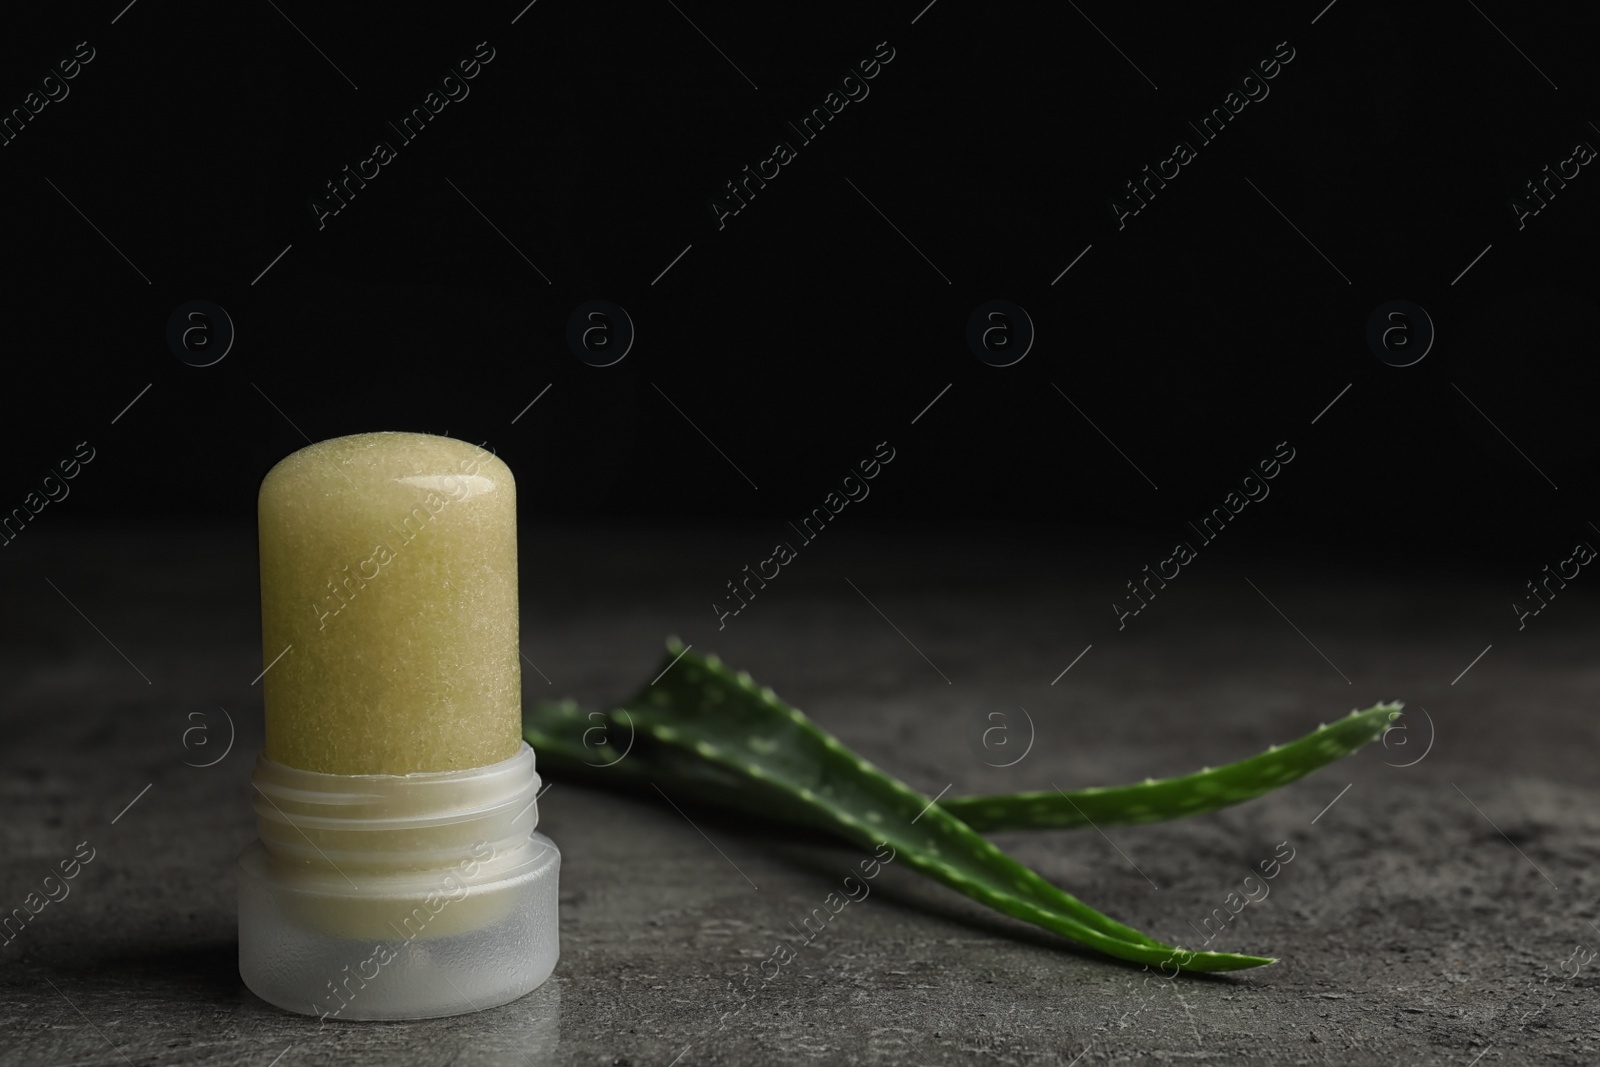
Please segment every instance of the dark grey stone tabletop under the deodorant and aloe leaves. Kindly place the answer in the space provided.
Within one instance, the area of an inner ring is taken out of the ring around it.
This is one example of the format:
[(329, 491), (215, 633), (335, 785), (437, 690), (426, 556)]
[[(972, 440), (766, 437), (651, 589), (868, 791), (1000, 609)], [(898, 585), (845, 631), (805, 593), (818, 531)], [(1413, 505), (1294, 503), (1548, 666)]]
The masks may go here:
[[(253, 533), (29, 530), (0, 560), (0, 905), (93, 857), (0, 949), (0, 1062), (1600, 1059), (1581, 966), (1600, 947), (1600, 609), (1576, 584), (1518, 632), (1515, 581), (1214, 553), (1118, 632), (1130, 553), (862, 526), (806, 545), (718, 630), (712, 600), (770, 536), (525, 531), (526, 694), (621, 699), (677, 633), (930, 797), (1182, 773), (1390, 697), (1408, 729), (1222, 813), (997, 835), (1083, 901), (1190, 944), (1288, 841), (1270, 896), (1213, 944), (1280, 957), (1251, 973), (1154, 995), (1139, 968), (890, 865), (746, 995), (742, 968), (858, 849), (557, 776), (541, 801), (565, 856), (554, 979), (480, 1014), (320, 1025), (235, 969), (232, 861), (254, 835), (261, 744)], [(973, 744), (997, 723), (1008, 752), (1032, 737), (1014, 766)]]

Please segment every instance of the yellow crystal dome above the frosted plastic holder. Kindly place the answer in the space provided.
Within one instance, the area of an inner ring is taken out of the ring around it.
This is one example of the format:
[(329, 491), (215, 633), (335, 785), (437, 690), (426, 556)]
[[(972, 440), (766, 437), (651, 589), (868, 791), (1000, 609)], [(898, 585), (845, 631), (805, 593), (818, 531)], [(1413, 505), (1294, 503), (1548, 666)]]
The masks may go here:
[[(517, 486), (427, 434), (302, 448), (261, 483), (267, 757), (328, 774), (485, 766), (522, 742)], [(278, 659), (282, 657), (282, 659)]]

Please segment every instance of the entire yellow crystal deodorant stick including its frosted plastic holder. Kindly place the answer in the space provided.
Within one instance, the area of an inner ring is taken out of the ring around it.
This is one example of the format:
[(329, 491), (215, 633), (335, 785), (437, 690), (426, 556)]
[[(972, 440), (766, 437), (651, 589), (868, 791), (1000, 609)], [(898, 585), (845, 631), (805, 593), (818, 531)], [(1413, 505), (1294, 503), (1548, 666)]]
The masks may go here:
[(515, 480), (427, 434), (358, 434), (262, 480), (261, 840), (240, 974), (344, 1019), (506, 1003), (560, 955), (560, 853), (522, 741)]

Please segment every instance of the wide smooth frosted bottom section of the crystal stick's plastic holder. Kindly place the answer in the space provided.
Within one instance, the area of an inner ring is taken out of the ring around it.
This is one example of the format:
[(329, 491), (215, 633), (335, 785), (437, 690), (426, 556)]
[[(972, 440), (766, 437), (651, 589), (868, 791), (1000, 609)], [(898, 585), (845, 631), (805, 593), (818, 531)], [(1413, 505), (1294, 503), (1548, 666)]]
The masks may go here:
[(363, 901), (395, 934), (355, 939), (314, 921), (347, 907), (349, 893), (290, 888), (253, 841), (237, 869), (238, 973), (267, 1003), (323, 1021), (432, 1019), (517, 1000), (550, 976), (562, 952), (562, 854), (542, 833), (530, 843), (531, 862), (464, 896), (435, 896), (437, 910), (422, 896)]

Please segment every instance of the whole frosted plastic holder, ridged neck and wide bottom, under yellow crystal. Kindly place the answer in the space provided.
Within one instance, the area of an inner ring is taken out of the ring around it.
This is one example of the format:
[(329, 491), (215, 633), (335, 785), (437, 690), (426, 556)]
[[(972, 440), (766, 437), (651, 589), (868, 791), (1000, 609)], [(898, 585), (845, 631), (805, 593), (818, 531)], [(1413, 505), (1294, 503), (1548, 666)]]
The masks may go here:
[(256, 758), (259, 840), (238, 857), (238, 974), (333, 1019), (504, 1005), (560, 957), (562, 854), (534, 832), (525, 744), (488, 766), (328, 774)]

